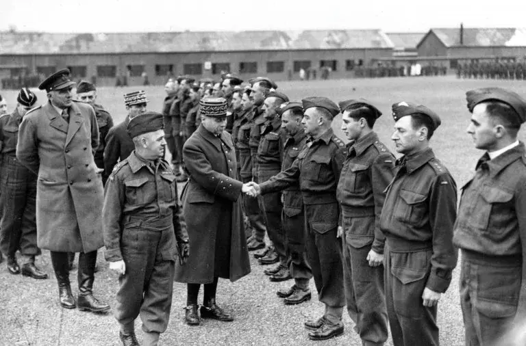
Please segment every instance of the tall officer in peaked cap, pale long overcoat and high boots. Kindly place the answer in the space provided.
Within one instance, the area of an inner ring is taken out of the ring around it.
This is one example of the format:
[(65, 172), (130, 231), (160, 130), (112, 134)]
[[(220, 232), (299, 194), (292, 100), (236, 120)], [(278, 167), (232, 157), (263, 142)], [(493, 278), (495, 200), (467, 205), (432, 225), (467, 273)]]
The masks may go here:
[(102, 181), (93, 155), (99, 127), (90, 105), (73, 101), (69, 70), (42, 81), (48, 103), (24, 116), (18, 132), (16, 159), (38, 174), (36, 185), (37, 245), (51, 252), (60, 305), (75, 308), (69, 282), (68, 252), (79, 252), (77, 306), (104, 312), (108, 304), (92, 293), (97, 250), (103, 246)]

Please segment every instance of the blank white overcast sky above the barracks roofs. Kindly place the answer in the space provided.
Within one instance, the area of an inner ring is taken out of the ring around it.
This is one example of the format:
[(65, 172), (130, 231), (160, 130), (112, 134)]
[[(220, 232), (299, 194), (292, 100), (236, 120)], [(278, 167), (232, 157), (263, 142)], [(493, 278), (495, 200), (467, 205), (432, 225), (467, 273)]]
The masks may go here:
[(526, 27), (526, 1), (0, 0), (0, 30), (129, 32)]

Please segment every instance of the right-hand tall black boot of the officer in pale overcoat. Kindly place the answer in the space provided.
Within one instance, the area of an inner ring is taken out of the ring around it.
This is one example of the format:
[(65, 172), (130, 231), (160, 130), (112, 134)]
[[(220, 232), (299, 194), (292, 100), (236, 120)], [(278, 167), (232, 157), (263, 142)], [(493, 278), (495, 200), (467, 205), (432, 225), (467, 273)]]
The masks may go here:
[(79, 310), (92, 312), (105, 312), (110, 310), (110, 306), (104, 302), (99, 302), (93, 297), (93, 282), (95, 281), (95, 263), (97, 262), (97, 251), (79, 254), (79, 295), (77, 304)]

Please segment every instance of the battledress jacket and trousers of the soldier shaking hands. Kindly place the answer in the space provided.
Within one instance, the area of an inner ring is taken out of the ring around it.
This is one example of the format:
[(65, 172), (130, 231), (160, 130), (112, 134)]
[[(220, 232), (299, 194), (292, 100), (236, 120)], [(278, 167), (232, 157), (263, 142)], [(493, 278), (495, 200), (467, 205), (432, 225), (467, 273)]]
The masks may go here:
[(318, 299), (336, 308), (345, 306), (342, 245), (336, 238), (340, 217), (336, 186), (345, 152), (345, 144), (329, 129), (309, 142), (290, 168), (260, 185), (261, 193), (268, 194), (299, 184), (305, 207), (307, 258)]

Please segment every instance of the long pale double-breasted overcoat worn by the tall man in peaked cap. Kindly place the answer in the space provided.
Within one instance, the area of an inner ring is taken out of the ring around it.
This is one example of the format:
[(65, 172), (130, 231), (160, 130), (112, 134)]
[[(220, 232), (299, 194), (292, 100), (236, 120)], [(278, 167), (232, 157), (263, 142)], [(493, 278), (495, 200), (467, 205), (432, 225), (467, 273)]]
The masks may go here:
[(47, 103), (29, 111), (18, 133), (16, 158), (38, 174), (38, 247), (56, 252), (91, 252), (104, 244), (104, 190), (95, 170), (99, 129), (90, 105), (74, 102), (69, 123)]

